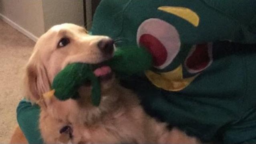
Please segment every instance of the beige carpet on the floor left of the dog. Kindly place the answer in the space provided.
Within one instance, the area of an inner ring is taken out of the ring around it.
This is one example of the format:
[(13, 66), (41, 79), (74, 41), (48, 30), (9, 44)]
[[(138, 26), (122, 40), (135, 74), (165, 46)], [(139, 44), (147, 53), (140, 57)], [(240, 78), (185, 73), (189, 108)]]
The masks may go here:
[(0, 20), (0, 143), (8, 143), (17, 126), (16, 107), (23, 97), (22, 72), (34, 44)]

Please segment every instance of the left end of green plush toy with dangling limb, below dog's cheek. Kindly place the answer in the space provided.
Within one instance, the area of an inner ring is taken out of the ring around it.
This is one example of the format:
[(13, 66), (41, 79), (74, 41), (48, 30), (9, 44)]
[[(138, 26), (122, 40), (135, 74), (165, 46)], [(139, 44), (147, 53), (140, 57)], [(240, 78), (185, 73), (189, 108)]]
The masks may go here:
[(92, 85), (92, 104), (99, 106), (101, 100), (101, 90), (98, 78), (95, 77), (88, 64), (73, 63), (66, 66), (54, 78), (52, 89), (54, 95), (59, 100), (69, 98), (79, 98), (78, 89), (80, 86), (90, 81)]

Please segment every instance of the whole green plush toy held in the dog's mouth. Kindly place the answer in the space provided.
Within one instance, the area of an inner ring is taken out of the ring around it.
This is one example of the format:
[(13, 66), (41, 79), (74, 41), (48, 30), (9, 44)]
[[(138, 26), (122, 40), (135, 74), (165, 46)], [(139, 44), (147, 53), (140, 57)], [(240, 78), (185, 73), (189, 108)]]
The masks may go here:
[[(144, 48), (125, 47), (115, 51), (114, 57), (105, 62), (117, 76), (130, 76), (144, 72), (151, 67), (152, 58)], [(85, 63), (73, 63), (61, 70), (52, 82), (54, 95), (59, 100), (78, 98), (78, 88), (87, 82), (91, 82), (91, 100), (94, 106), (99, 106), (101, 89), (99, 79), (93, 74), (93, 65)]]

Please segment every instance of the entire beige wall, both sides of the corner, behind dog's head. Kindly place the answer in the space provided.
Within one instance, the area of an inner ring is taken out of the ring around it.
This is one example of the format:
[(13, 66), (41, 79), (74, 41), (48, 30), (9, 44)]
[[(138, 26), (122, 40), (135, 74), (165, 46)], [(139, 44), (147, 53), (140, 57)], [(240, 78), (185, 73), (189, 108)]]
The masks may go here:
[(0, 0), (0, 18), (36, 41), (56, 24), (84, 26), (83, 0)]

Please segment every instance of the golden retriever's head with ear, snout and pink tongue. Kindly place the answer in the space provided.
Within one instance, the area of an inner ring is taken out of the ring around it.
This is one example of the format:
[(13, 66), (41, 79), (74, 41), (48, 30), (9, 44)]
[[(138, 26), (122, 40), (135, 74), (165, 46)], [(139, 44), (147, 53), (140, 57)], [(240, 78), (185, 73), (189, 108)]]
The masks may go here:
[(111, 78), (111, 68), (101, 62), (110, 59), (113, 50), (114, 42), (107, 36), (91, 36), (75, 24), (53, 26), (38, 39), (26, 66), (27, 97), (38, 102), (50, 90), (54, 76), (74, 62), (98, 64), (94, 73), (106, 82)]

